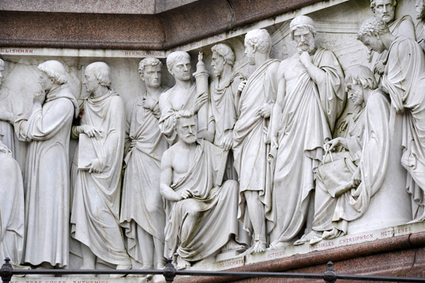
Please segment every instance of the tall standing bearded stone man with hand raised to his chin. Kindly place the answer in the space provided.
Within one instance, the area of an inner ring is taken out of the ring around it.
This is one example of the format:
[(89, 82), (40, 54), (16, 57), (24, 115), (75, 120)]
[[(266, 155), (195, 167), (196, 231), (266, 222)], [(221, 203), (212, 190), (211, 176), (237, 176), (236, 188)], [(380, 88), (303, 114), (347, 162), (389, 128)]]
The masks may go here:
[(315, 47), (312, 19), (294, 18), (290, 36), (297, 52), (280, 63), (271, 121), (271, 161), (276, 162), (267, 214), (271, 248), (288, 246), (305, 224), (322, 145), (331, 139), (346, 101), (341, 66), (334, 53)]

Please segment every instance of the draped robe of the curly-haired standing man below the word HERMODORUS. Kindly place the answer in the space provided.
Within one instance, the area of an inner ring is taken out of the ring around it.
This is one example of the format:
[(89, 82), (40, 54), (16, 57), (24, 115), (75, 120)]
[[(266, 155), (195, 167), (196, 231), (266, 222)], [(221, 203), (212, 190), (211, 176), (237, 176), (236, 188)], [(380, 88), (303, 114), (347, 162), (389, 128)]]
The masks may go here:
[(137, 241), (137, 225), (162, 243), (165, 241), (165, 212), (159, 192), (159, 176), (162, 154), (168, 149), (168, 143), (158, 127), (158, 103), (153, 112), (143, 108), (146, 96), (147, 92), (138, 96), (132, 109), (130, 139), (136, 144), (125, 156), (127, 168), (120, 214), (120, 223), (128, 238), (128, 253), (138, 262), (144, 261), (140, 253), (144, 243)]

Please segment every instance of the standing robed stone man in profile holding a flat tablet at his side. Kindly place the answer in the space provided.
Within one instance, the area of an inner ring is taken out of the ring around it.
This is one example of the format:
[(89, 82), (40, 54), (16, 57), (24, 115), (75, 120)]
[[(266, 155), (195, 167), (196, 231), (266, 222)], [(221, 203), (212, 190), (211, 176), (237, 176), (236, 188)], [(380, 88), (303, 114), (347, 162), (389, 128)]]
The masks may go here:
[(84, 72), (86, 91), (79, 136), (79, 169), (72, 203), (72, 237), (81, 243), (81, 269), (94, 269), (96, 258), (131, 267), (120, 228), (120, 175), (123, 163), (124, 103), (111, 88), (110, 69), (94, 62)]

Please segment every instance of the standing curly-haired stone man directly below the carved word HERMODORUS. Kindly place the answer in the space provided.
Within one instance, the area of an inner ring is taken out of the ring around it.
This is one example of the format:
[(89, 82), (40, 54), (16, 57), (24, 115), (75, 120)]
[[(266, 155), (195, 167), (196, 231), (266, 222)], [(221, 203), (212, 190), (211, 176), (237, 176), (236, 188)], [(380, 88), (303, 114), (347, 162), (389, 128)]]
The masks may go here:
[[(140, 61), (139, 74), (147, 90), (137, 96), (130, 120), (130, 151), (125, 156), (123, 200), (120, 223), (125, 228), (132, 269), (162, 269), (164, 258), (165, 212), (159, 192), (161, 158), (168, 142), (161, 134), (158, 100), (162, 62), (157, 58)], [(154, 258), (156, 262), (154, 262)]]

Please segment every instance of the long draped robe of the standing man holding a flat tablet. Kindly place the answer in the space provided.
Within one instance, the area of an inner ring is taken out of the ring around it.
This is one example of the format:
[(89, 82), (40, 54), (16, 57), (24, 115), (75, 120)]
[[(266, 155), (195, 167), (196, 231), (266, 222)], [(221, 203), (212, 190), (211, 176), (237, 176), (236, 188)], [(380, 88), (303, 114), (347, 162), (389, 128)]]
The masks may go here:
[[(115, 91), (84, 102), (81, 125), (101, 129), (103, 137), (90, 138), (105, 168), (101, 173), (79, 169), (72, 203), (72, 237), (88, 246), (96, 257), (114, 265), (130, 265), (120, 229), (120, 175), (123, 163), (125, 114)], [(79, 146), (84, 146), (81, 143)]]

